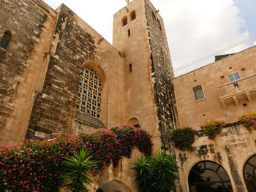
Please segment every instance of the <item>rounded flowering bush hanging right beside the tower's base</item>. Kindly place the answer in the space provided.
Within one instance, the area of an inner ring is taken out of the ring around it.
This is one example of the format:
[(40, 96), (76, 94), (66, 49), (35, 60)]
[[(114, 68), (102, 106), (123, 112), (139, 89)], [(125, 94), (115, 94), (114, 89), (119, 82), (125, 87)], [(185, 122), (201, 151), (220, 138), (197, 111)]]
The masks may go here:
[(173, 129), (171, 139), (178, 149), (192, 150), (192, 144), (195, 142), (195, 130), (191, 127)]

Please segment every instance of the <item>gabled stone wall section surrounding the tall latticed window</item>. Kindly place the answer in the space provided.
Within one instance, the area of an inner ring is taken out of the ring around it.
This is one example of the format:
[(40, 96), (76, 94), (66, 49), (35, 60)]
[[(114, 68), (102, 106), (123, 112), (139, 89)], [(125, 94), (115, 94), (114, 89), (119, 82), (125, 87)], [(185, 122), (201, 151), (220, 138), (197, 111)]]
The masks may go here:
[(94, 67), (104, 79), (102, 124), (108, 127), (121, 123), (123, 60), (118, 50), (64, 4), (57, 12), (48, 71), (34, 102), (26, 138), (94, 131), (94, 126), (76, 120), (78, 82), (85, 65)]

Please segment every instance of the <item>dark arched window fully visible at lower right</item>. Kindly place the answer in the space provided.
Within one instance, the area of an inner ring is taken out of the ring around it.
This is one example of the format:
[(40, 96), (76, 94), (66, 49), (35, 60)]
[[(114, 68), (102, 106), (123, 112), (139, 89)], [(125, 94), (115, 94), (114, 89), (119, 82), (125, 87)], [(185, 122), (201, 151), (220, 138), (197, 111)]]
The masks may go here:
[(190, 192), (231, 192), (230, 177), (225, 169), (211, 161), (202, 161), (189, 172)]

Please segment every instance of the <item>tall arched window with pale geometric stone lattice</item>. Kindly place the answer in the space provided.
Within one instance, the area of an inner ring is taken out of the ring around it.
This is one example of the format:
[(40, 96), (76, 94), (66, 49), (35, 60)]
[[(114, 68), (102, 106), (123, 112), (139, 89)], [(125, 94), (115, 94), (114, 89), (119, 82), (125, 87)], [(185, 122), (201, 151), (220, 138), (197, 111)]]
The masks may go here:
[(102, 80), (90, 66), (80, 72), (77, 110), (100, 119), (102, 108)]

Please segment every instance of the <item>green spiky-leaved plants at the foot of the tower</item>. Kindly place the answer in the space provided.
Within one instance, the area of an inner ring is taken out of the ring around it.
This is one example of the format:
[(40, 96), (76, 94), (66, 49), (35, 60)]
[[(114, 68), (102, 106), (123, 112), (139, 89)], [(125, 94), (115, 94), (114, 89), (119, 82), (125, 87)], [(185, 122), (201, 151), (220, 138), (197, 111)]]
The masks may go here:
[(178, 180), (178, 166), (174, 157), (163, 151), (154, 156), (140, 157), (133, 162), (135, 181), (138, 182), (140, 192), (170, 192), (175, 188)]

